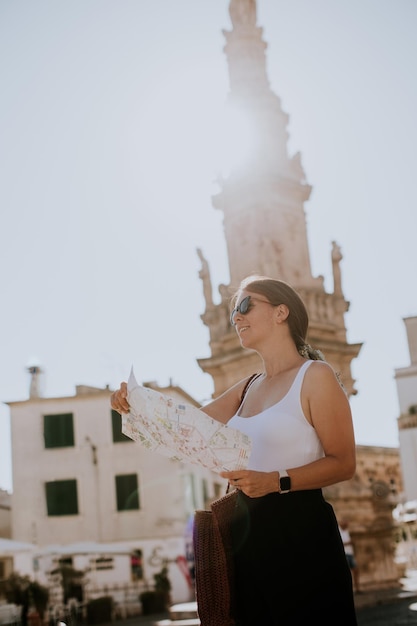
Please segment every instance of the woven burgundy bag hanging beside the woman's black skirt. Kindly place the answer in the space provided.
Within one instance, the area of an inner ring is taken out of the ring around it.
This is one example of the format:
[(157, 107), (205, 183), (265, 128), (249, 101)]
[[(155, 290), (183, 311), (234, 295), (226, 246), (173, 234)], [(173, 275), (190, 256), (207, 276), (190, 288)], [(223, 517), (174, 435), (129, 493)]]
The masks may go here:
[(201, 626), (234, 626), (233, 552), (230, 523), (238, 491), (194, 514), (195, 591)]

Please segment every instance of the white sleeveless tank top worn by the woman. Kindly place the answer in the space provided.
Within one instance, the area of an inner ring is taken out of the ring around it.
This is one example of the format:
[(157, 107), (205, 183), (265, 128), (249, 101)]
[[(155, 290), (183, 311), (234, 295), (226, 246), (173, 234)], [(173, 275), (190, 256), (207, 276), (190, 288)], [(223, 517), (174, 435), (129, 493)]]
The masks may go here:
[(251, 417), (240, 417), (240, 405), (236, 415), (227, 422), (252, 441), (248, 469), (274, 472), (300, 467), (324, 456), (317, 433), (301, 407), (301, 387), (312, 362), (303, 363), (282, 400)]

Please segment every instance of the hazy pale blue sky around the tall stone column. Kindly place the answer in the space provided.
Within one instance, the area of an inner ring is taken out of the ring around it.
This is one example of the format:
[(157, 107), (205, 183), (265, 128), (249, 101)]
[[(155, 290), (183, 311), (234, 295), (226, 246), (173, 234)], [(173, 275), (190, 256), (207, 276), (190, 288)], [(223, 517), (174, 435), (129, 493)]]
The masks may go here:
[[(228, 0), (0, 0), (0, 487), (8, 401), (170, 378), (212, 393), (201, 247), (228, 93)], [(396, 446), (403, 318), (417, 315), (417, 2), (259, 0), (273, 91), (300, 151), (313, 274), (342, 248), (357, 442)], [(24, 436), (24, 433), (22, 433)]]

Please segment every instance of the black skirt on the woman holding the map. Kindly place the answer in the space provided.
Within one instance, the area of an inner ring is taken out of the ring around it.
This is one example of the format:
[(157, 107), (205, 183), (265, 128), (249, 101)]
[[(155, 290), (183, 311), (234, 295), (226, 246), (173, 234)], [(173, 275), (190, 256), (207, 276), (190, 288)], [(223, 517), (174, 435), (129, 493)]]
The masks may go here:
[(352, 577), (320, 489), (249, 498), (232, 525), (237, 626), (356, 626)]

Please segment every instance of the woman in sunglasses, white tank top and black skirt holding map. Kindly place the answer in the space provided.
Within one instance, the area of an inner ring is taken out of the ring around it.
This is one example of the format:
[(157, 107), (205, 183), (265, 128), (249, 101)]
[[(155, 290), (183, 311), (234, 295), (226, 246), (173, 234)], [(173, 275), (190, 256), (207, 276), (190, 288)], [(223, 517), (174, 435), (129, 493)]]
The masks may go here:
[[(252, 440), (247, 469), (222, 474), (239, 489), (236, 624), (355, 626), (350, 571), (321, 491), (355, 471), (348, 399), (321, 353), (306, 345), (307, 311), (289, 285), (248, 277), (233, 306), (241, 345), (260, 355), (263, 371), (202, 410)], [(128, 411), (125, 383), (112, 407)]]

